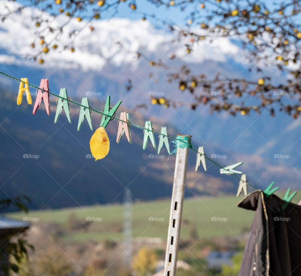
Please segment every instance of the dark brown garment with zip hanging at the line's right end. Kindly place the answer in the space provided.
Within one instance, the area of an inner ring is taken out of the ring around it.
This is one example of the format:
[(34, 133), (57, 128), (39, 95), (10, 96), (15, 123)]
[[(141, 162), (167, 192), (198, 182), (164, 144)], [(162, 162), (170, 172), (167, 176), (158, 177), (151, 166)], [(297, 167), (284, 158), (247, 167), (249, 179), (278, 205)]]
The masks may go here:
[(261, 190), (237, 205), (256, 210), (238, 276), (301, 276), (301, 206)]

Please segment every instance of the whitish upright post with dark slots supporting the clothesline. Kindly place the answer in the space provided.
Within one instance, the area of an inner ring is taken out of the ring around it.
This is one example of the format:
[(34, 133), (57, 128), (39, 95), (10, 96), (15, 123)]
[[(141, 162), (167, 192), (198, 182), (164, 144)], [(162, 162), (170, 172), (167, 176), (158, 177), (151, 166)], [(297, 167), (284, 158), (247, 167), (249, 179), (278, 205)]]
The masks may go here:
[[(181, 134), (178, 134), (178, 136), (191, 137), (190, 135)], [(176, 276), (179, 246), (178, 243), (180, 238), (182, 222), (188, 151), (189, 148), (177, 149), (175, 174), (172, 188), (172, 203), (170, 207), (170, 217), (166, 245), (164, 276)]]

